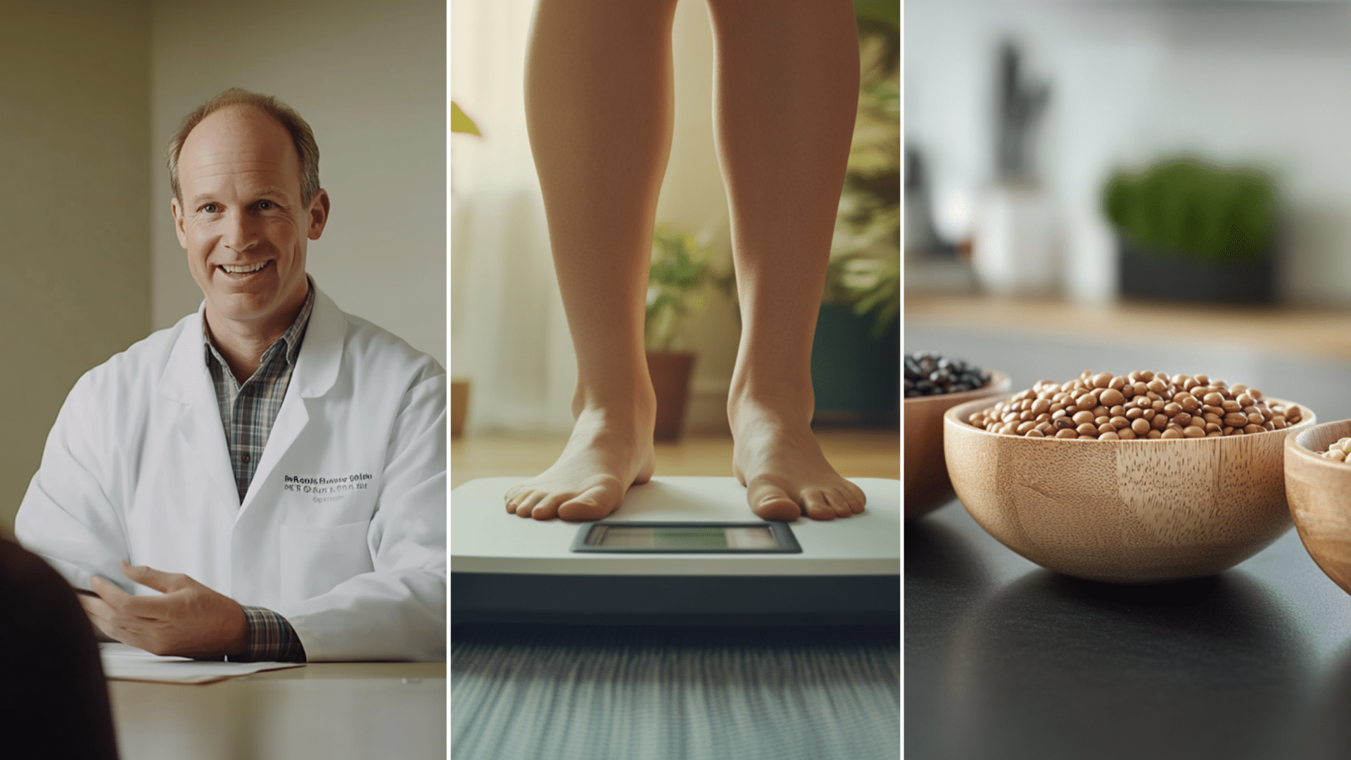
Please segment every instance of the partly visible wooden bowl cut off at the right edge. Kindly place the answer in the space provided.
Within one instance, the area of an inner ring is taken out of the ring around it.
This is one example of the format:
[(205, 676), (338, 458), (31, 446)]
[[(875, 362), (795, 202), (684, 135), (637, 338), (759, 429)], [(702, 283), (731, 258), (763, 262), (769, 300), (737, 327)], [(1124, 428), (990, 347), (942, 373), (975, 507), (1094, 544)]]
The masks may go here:
[(1351, 419), (1290, 435), (1285, 441), (1285, 494), (1304, 548), (1351, 594), (1351, 464), (1317, 454), (1347, 435)]

